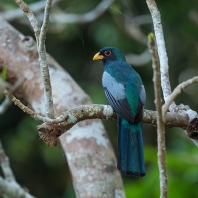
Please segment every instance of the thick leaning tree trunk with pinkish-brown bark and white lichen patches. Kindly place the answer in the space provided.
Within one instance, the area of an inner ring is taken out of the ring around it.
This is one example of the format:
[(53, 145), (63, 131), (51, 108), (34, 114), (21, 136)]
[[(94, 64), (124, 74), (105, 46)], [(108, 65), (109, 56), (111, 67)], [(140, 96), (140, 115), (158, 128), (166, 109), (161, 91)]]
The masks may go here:
[[(45, 115), (43, 82), (34, 40), (23, 36), (0, 18), (0, 43), (0, 68), (8, 67), (8, 81), (14, 83), (19, 78), (25, 79), (15, 96)], [(48, 63), (56, 116), (77, 105), (91, 103), (84, 91), (49, 55)], [(125, 197), (116, 158), (100, 121), (78, 123), (60, 137), (60, 143), (77, 197)]]

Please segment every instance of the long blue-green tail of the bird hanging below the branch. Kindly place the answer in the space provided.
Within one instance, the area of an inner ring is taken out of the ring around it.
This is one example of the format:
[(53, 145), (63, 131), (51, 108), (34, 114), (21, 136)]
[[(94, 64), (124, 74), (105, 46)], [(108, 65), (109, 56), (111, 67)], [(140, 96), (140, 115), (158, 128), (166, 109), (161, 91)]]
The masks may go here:
[(131, 124), (118, 116), (118, 169), (126, 175), (145, 175), (142, 122)]

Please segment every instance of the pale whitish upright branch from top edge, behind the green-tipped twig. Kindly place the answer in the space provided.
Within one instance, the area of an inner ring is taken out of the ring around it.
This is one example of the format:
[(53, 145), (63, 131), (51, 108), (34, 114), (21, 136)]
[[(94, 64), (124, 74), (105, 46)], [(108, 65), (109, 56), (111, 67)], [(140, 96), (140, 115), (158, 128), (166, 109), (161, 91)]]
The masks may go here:
[[(164, 41), (164, 34), (163, 28), (161, 24), (161, 16), (160, 12), (157, 8), (157, 4), (154, 0), (146, 0), (148, 8), (151, 12), (154, 30), (155, 30), (155, 37), (157, 43), (157, 50), (159, 55), (160, 61), (160, 71), (161, 71), (161, 86), (163, 90), (164, 100), (168, 99), (169, 95), (171, 94), (171, 86), (169, 80), (169, 66), (168, 66), (168, 57), (166, 53), (165, 41)], [(172, 102), (170, 108), (175, 107), (175, 103)]]

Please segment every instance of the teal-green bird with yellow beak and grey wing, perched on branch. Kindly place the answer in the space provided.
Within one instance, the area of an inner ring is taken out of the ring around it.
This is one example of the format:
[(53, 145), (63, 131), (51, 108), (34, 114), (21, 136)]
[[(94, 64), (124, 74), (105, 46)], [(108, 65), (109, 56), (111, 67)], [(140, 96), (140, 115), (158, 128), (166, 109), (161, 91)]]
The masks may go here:
[(146, 92), (140, 75), (115, 47), (104, 47), (93, 57), (102, 60), (102, 86), (117, 114), (117, 168), (129, 176), (145, 176), (142, 117)]

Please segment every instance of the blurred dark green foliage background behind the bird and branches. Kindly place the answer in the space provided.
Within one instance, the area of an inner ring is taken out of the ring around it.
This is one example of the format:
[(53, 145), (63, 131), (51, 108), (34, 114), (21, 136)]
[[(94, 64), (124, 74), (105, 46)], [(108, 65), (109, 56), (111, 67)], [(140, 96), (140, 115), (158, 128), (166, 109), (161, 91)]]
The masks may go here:
[[(25, 2), (35, 6), (41, 23), (45, 1)], [(153, 26), (146, 1), (117, 0), (94, 21), (69, 23), (67, 17), (64, 21), (65, 13), (84, 14), (100, 3), (100, 0), (54, 1), (46, 41), (48, 53), (89, 94), (93, 103), (108, 104), (101, 86), (102, 64), (92, 58), (104, 46), (119, 48), (142, 77), (147, 93), (145, 108), (155, 110), (152, 66), (147, 51), (147, 35)], [(174, 88), (197, 75), (198, 4), (196, 0), (157, 0), (156, 3), (161, 12)], [(34, 37), (27, 18), (17, 8), (13, 0), (0, 1), (0, 15), (24, 35)], [(186, 89), (176, 103), (184, 103), (196, 111), (196, 87)], [(104, 124), (117, 152), (116, 123), (104, 121)], [(37, 125), (37, 121), (15, 106), (0, 116), (0, 139), (17, 181), (36, 197), (74, 198), (71, 176), (60, 146), (49, 148), (40, 141)], [(156, 128), (144, 125), (143, 135), (147, 175), (143, 178), (123, 176), (127, 198), (159, 197)], [(166, 146), (169, 197), (197, 197), (198, 148), (179, 128), (166, 129)]]

